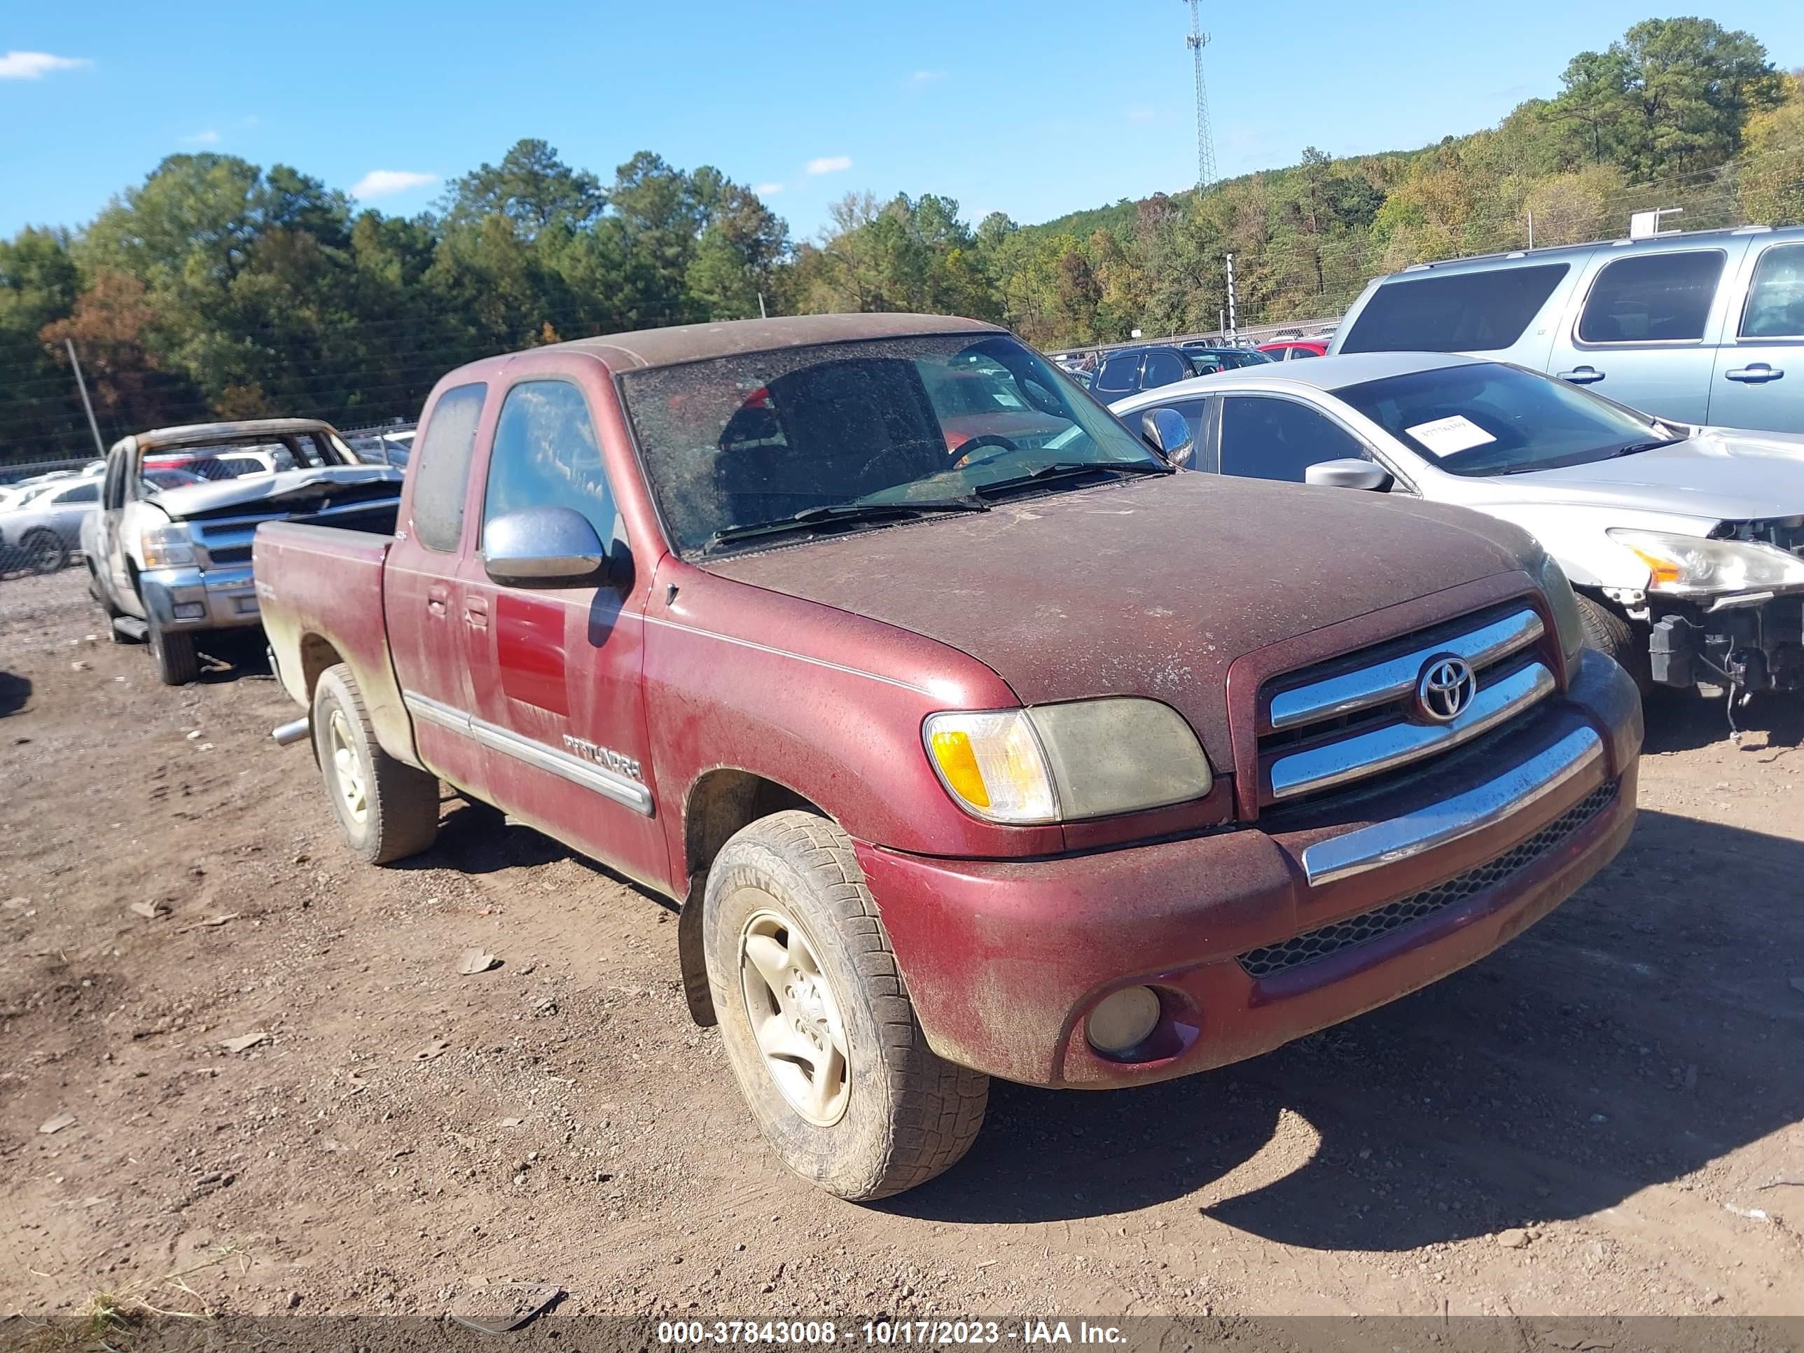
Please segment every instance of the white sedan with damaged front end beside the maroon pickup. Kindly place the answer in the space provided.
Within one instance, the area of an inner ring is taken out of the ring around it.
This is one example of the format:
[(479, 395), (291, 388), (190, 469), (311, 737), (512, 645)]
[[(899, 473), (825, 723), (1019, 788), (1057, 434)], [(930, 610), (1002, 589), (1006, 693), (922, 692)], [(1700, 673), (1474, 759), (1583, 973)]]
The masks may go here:
[[(1541, 372), (1358, 354), (1187, 381), (1196, 469), (1458, 503), (1541, 539), (1643, 689), (1804, 691), (1804, 437), (1651, 419)], [(1169, 417), (1169, 413), (1165, 415)]]

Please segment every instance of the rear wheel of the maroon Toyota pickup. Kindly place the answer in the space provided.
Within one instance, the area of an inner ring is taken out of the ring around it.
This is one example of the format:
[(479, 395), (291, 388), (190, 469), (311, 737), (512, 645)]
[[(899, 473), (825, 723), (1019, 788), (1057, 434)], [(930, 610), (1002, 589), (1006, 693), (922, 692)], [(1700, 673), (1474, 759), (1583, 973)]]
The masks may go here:
[(314, 686), (312, 725), (327, 799), (354, 851), (370, 864), (388, 864), (438, 839), (438, 778), (382, 750), (357, 678), (343, 662)]

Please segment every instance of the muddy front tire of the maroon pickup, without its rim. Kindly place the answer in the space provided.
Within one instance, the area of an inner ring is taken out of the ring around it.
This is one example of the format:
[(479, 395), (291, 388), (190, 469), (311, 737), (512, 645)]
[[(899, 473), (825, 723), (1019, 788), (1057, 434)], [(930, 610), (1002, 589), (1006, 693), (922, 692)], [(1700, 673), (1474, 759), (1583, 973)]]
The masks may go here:
[[(842, 1023), (846, 1095), (830, 1126), (792, 1104), (752, 1032), (741, 942), (772, 913), (801, 931)], [(833, 823), (781, 812), (741, 828), (707, 873), (702, 936), (727, 1061), (796, 1174), (864, 1201), (925, 1183), (971, 1149), (989, 1077), (927, 1046), (851, 839)]]

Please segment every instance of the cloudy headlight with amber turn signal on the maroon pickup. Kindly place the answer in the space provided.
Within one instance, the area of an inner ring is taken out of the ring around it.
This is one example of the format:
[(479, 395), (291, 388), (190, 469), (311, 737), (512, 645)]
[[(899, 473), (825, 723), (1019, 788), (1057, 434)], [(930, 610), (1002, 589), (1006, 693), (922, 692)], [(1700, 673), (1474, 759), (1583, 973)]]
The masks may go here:
[(1158, 808), (1200, 799), (1214, 783), (1191, 725), (1156, 700), (933, 714), (924, 738), (947, 792), (992, 823)]

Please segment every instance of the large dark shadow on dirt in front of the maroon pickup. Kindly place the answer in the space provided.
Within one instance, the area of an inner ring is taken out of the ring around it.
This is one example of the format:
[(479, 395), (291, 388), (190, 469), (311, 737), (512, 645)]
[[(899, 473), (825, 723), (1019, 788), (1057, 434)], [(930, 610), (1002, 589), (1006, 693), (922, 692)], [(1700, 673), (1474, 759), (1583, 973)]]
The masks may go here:
[(1122, 1093), (996, 1084), (962, 1165), (882, 1207), (1045, 1221), (1189, 1198), (1284, 1245), (1575, 1218), (1804, 1117), (1804, 842), (1643, 812), (1483, 963), (1266, 1057)]

